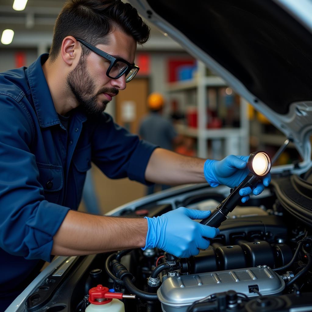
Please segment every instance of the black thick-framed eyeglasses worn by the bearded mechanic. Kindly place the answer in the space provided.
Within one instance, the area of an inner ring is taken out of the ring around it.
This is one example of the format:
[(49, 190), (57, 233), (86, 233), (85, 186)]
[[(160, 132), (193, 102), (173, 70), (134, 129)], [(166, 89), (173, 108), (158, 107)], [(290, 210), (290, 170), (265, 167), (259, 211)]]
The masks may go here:
[(94, 53), (104, 57), (106, 60), (110, 61), (110, 66), (106, 71), (106, 76), (111, 79), (118, 79), (122, 75), (126, 75), (126, 82), (129, 82), (134, 78), (134, 76), (139, 71), (139, 67), (130, 64), (129, 62), (123, 60), (122, 58), (115, 58), (107, 54), (106, 52), (96, 48), (95, 46), (91, 46), (88, 42), (85, 42), (79, 38), (76, 38), (77, 41), (81, 42), (88, 49), (93, 51)]

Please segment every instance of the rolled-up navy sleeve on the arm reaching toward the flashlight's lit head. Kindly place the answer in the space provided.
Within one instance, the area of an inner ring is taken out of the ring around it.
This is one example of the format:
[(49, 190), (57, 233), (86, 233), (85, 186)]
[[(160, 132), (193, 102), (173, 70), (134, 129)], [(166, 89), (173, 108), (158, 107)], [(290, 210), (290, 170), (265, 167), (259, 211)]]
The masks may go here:
[(109, 178), (129, 177), (150, 184), (145, 180), (145, 170), (155, 148), (157, 145), (139, 140), (103, 114), (92, 137), (92, 161)]

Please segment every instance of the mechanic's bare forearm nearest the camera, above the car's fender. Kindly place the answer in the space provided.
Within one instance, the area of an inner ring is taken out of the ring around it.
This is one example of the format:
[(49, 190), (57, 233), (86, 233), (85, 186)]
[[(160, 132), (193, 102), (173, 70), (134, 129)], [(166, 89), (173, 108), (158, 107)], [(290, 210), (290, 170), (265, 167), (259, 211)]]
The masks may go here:
[(53, 237), (52, 255), (88, 255), (145, 246), (147, 220), (70, 210)]

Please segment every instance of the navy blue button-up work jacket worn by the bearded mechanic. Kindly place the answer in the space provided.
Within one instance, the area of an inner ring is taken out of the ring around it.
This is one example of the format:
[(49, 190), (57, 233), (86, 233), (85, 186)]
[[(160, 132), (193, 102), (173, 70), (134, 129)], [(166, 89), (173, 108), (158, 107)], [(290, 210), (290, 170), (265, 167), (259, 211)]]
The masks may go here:
[(50, 261), (53, 236), (77, 209), (91, 161), (109, 178), (146, 183), (156, 147), (110, 115), (86, 116), (79, 107), (67, 132), (42, 71), (47, 57), (0, 74), (0, 299), (20, 291), (39, 259)]

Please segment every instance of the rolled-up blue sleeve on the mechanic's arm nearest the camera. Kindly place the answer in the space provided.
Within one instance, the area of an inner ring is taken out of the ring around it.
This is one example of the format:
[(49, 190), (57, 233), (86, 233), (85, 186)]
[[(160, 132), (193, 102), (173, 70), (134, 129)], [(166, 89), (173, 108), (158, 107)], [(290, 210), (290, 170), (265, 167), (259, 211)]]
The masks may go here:
[(0, 95), (0, 247), (50, 261), (53, 236), (69, 208), (47, 202), (31, 153), (34, 126), (26, 108)]

